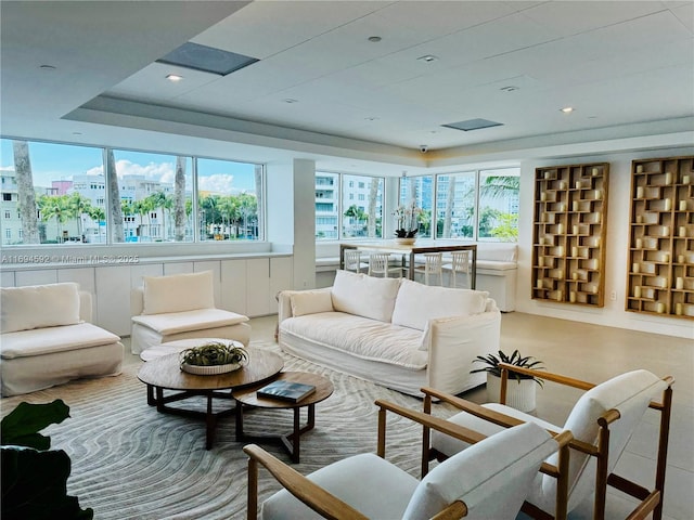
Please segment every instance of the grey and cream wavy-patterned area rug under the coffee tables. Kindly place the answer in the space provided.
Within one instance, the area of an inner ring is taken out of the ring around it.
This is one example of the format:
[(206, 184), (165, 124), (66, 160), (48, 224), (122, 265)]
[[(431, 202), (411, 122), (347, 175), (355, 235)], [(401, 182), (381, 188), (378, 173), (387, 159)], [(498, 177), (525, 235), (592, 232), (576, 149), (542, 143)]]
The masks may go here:
[[(254, 347), (280, 353), (274, 343), (254, 342)], [(335, 387), (333, 395), (316, 406), (316, 428), (301, 437), (301, 460), (292, 466), (304, 474), (350, 455), (375, 453), (376, 399), (422, 408), (416, 398), (281, 355), (285, 369), (322, 374)], [(245, 518), (247, 458), (243, 443), (235, 442), (233, 417), (220, 420), (215, 445), (206, 451), (202, 420), (158, 414), (147, 406), (145, 386), (137, 378), (139, 367), (132, 363), (117, 377), (5, 398), (2, 415), (22, 401), (65, 401), (70, 417), (44, 431), (52, 447), (65, 450), (72, 458), (68, 493), (79, 497), (81, 507), (91, 507), (95, 519)], [(244, 414), (244, 429), (288, 432), (292, 412), (250, 411)], [(421, 427), (388, 414), (386, 431), (386, 458), (419, 476)], [(290, 461), (280, 446), (261, 445)], [(262, 499), (279, 486), (261, 470), (259, 489)]]

